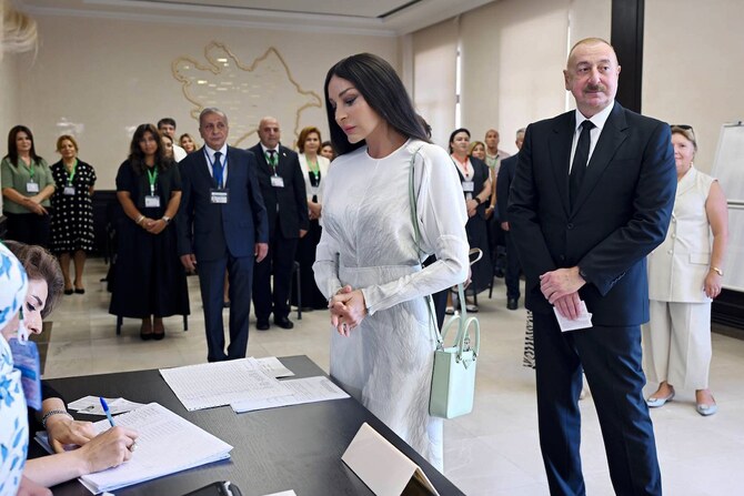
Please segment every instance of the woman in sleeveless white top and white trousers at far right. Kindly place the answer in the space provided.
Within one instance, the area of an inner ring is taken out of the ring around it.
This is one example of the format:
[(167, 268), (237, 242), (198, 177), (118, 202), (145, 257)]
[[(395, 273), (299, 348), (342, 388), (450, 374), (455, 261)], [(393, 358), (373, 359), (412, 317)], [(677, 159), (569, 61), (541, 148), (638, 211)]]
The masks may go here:
[[(651, 320), (643, 328), (646, 375), (660, 383), (651, 407), (674, 397), (674, 386), (695, 389), (697, 413), (713, 415), (708, 389), (711, 302), (721, 294), (728, 237), (726, 198), (717, 180), (696, 170), (690, 125), (672, 125), (677, 192), (666, 240), (649, 255)], [(711, 234), (712, 242), (711, 242)]]

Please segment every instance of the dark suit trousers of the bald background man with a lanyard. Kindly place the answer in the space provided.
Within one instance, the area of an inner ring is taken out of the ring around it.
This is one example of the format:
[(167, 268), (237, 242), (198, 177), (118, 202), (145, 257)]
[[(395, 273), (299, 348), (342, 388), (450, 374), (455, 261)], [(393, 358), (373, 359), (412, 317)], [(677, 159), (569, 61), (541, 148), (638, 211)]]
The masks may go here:
[[(269, 254), (263, 262), (255, 264), (253, 305), (257, 320), (268, 321), (272, 312), (274, 320), (286, 317), (290, 314), (290, 284), (298, 241), (299, 237), (288, 239), (282, 235), (279, 217), (277, 217), (277, 225), (269, 241)], [(273, 292), (271, 290), (272, 273), (274, 276)]]

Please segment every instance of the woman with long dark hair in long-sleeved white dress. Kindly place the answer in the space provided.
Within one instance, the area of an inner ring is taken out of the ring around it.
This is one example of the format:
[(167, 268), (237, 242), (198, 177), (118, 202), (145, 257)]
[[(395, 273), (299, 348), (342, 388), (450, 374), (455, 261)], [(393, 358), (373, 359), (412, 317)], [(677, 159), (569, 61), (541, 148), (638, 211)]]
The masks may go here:
[[(435, 337), (424, 296), (467, 277), (462, 188), (388, 62), (344, 59), (329, 71), (325, 92), (339, 158), (323, 185), (313, 270), (336, 331), (331, 375), (442, 470), (442, 419), (429, 415)], [(432, 253), (436, 262), (422, 269)]]

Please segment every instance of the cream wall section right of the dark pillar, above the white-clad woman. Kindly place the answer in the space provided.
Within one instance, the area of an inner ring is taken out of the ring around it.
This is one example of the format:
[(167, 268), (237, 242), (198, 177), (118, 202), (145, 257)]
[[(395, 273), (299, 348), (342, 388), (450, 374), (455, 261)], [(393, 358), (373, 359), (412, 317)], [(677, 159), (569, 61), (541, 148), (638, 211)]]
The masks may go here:
[[(695, 166), (713, 168), (721, 125), (744, 120), (744, 2), (646, 2), (643, 113), (695, 130)], [(725, 191), (725, 184), (723, 184)]]

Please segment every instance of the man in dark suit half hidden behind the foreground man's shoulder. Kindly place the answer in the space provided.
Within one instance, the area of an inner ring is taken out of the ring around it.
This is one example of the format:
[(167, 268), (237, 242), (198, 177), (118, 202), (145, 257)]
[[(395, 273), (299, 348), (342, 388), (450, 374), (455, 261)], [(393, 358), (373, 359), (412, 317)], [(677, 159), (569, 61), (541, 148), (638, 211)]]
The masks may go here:
[[(524, 128), (516, 131), (517, 150), (522, 150), (524, 142)], [(501, 213), (500, 224), (504, 232), (506, 241), (506, 271), (504, 273), (504, 282), (506, 283), (506, 307), (509, 310), (516, 310), (520, 306), (520, 259), (516, 254), (514, 241), (509, 233), (509, 221), (506, 205), (509, 201), (509, 189), (514, 180), (514, 172), (516, 172), (516, 164), (519, 163), (519, 155), (512, 155), (504, 159), (499, 168), (499, 175), (496, 176), (496, 201), (499, 202), (499, 212)]]

